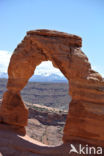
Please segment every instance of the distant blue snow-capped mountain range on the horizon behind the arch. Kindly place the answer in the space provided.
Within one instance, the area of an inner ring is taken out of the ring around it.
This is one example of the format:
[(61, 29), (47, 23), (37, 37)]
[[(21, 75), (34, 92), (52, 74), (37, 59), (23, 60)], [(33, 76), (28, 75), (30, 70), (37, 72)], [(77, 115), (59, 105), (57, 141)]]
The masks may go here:
[[(7, 73), (0, 73), (0, 78), (8, 78)], [(58, 74), (40, 74), (33, 75), (29, 81), (31, 82), (68, 82), (64, 76)]]

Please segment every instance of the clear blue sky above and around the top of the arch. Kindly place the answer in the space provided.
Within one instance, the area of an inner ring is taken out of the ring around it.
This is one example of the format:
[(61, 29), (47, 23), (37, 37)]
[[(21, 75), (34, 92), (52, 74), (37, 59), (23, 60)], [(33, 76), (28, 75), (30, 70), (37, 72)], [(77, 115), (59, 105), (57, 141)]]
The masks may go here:
[(27, 31), (45, 28), (81, 36), (82, 50), (104, 75), (103, 0), (0, 0), (0, 20), (0, 68)]

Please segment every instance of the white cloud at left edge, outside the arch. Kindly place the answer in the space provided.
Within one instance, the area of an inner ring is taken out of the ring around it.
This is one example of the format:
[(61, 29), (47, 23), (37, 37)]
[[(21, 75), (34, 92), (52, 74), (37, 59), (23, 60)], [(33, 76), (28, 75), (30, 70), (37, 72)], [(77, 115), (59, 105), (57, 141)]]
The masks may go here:
[(0, 50), (0, 72), (7, 72), (11, 53), (5, 50)]

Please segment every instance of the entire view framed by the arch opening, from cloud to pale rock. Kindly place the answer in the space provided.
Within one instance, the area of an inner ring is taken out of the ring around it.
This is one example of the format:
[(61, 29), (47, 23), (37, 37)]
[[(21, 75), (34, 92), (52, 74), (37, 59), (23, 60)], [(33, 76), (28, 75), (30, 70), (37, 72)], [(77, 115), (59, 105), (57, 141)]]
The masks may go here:
[(22, 90), (29, 110), (27, 135), (47, 145), (62, 144), (71, 97), (67, 79), (52, 62), (38, 65)]

